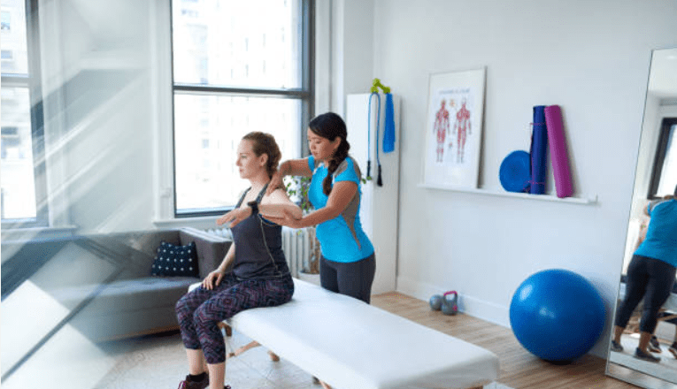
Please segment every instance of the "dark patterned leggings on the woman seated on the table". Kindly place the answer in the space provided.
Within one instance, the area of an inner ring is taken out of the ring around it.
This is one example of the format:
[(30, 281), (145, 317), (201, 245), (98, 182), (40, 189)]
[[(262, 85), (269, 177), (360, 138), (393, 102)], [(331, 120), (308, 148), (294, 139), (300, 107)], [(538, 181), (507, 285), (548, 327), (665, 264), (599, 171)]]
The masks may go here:
[(183, 345), (191, 350), (202, 349), (207, 363), (224, 362), (226, 345), (218, 324), (244, 309), (284, 304), (292, 294), (291, 276), (238, 280), (227, 274), (212, 290), (199, 286), (176, 303)]

